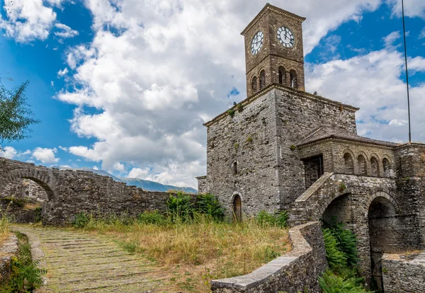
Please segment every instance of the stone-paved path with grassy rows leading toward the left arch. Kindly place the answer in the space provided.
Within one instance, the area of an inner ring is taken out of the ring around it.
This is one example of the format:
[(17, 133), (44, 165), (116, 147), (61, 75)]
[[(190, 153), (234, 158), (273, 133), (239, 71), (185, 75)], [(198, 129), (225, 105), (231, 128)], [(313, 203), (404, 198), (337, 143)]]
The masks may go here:
[(33, 258), (47, 268), (41, 292), (154, 292), (162, 282), (152, 264), (106, 237), (45, 227), (13, 230), (28, 236)]

